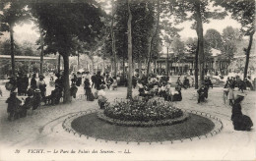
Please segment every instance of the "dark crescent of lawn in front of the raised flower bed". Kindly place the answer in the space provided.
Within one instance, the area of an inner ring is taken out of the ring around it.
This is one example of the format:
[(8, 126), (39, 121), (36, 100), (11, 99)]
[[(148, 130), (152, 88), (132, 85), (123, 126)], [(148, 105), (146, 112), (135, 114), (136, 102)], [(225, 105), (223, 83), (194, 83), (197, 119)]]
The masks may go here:
[(161, 127), (123, 127), (106, 123), (96, 113), (75, 119), (72, 128), (80, 134), (116, 141), (164, 141), (193, 137), (211, 132), (215, 124), (202, 116), (190, 114), (187, 121)]

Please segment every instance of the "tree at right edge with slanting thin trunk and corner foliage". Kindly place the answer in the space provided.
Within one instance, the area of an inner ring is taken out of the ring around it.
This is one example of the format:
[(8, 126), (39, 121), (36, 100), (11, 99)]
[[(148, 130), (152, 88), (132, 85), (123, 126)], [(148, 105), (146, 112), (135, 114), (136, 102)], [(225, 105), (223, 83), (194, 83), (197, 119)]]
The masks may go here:
[(249, 44), (245, 49), (246, 59), (243, 78), (247, 77), (250, 51), (255, 32), (255, 1), (254, 0), (215, 0), (215, 5), (221, 5), (231, 13), (232, 19), (241, 24), (241, 30), (249, 36)]

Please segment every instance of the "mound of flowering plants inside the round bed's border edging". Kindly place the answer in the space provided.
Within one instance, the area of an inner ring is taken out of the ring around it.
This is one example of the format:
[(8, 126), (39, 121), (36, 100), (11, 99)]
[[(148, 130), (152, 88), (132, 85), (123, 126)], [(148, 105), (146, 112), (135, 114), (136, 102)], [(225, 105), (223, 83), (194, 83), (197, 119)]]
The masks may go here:
[(121, 121), (151, 122), (179, 118), (183, 112), (160, 100), (128, 100), (108, 104), (104, 115)]

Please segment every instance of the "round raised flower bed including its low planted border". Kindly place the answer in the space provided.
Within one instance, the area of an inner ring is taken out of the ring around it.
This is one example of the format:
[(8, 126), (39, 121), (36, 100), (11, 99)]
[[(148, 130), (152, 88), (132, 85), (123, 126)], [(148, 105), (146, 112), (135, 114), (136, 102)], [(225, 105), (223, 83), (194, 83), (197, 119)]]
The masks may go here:
[(172, 125), (187, 119), (180, 109), (160, 100), (127, 100), (107, 104), (98, 117), (109, 123), (125, 126)]

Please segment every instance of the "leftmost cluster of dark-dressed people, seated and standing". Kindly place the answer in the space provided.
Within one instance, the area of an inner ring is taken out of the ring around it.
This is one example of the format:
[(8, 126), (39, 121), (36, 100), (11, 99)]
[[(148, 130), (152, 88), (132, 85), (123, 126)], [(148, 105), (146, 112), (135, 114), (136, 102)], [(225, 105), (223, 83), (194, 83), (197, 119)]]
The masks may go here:
[[(8, 103), (8, 120), (18, 119), (27, 116), (28, 110), (35, 110), (40, 105), (40, 101), (45, 97), (46, 83), (43, 76), (35, 80), (35, 74), (32, 75), (31, 84), (27, 74), (19, 73), (15, 78), (9, 78), (6, 83), (6, 89), (10, 90), (10, 97), (6, 100)], [(30, 86), (30, 87), (29, 87)], [(26, 99), (18, 96), (27, 96)]]

